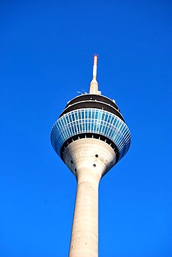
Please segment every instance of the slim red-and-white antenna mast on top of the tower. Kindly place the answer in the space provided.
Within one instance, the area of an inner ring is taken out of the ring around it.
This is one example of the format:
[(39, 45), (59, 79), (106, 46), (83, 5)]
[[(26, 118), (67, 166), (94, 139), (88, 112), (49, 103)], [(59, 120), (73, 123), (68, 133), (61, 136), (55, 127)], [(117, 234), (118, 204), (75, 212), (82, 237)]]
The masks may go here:
[(98, 83), (96, 81), (97, 59), (98, 59), (98, 54), (95, 53), (93, 56), (93, 73), (92, 73), (92, 81), (89, 86), (89, 94), (101, 94), (101, 92), (98, 91)]

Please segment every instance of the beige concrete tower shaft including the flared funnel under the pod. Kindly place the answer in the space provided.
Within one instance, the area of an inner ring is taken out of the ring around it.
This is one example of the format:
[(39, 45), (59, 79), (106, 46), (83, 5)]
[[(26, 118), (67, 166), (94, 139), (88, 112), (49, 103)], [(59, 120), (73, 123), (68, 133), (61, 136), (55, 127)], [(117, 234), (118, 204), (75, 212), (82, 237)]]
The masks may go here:
[(98, 256), (98, 184), (111, 169), (116, 154), (95, 138), (71, 142), (64, 151), (65, 164), (76, 169), (77, 193), (71, 233), (70, 257)]

